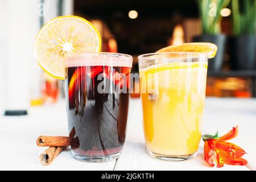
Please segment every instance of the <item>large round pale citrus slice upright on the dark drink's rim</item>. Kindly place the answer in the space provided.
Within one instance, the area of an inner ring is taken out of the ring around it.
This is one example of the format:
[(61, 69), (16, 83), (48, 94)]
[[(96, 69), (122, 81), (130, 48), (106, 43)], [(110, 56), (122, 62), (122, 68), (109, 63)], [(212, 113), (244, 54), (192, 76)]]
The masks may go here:
[(79, 52), (100, 52), (101, 36), (88, 20), (58, 16), (45, 24), (35, 38), (35, 56), (49, 75), (64, 79), (64, 60)]

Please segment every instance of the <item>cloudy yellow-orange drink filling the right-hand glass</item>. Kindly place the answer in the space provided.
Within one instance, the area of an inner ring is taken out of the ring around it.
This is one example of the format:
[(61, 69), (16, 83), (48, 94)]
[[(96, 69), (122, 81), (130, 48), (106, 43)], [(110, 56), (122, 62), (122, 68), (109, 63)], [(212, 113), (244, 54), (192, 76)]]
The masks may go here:
[(198, 150), (206, 77), (203, 62), (165, 63), (140, 70), (147, 150), (170, 156)]

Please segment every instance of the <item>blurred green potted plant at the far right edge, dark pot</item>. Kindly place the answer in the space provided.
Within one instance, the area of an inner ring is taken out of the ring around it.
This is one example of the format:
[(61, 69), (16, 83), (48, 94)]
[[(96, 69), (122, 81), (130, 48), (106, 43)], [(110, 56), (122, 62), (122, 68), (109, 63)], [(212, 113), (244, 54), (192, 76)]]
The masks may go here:
[(230, 58), (233, 69), (255, 69), (256, 0), (232, 0), (233, 33)]

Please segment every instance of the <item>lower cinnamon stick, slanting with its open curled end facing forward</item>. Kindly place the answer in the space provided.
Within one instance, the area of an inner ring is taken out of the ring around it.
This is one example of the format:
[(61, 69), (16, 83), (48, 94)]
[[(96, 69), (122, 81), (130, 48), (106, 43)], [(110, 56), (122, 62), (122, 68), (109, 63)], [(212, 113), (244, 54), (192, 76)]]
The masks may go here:
[(52, 163), (57, 155), (67, 147), (49, 147), (46, 151), (42, 152), (39, 156), (40, 163), (47, 166)]

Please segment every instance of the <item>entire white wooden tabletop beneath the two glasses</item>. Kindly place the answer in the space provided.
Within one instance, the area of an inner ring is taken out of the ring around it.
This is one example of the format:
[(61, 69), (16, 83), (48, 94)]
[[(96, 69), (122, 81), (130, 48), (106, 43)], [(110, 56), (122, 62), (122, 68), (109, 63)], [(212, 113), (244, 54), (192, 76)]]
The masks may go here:
[(0, 170), (250, 170), (256, 169), (256, 100), (207, 98), (203, 133), (225, 134), (233, 126), (240, 133), (232, 142), (248, 153), (247, 166), (210, 168), (204, 162), (203, 142), (198, 156), (187, 162), (164, 162), (146, 154), (139, 99), (130, 100), (126, 144), (118, 160), (109, 163), (84, 163), (73, 159), (71, 151), (61, 152), (49, 166), (39, 163), (46, 150), (36, 146), (39, 135), (68, 135), (65, 102), (53, 106), (32, 107), (27, 116), (0, 117)]

